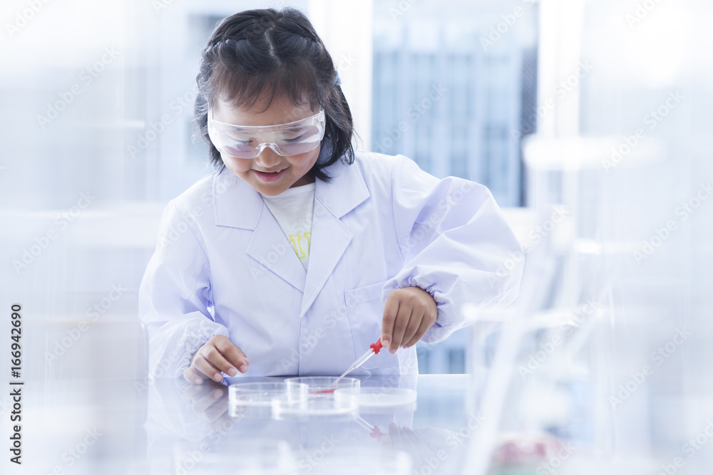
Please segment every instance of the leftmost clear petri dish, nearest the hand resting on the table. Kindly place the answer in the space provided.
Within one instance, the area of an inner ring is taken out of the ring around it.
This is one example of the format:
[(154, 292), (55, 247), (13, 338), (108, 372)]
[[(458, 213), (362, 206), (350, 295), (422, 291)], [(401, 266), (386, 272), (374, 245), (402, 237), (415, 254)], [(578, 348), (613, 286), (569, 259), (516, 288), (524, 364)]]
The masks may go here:
[(307, 400), (309, 387), (299, 382), (237, 382), (228, 387), (232, 408), (299, 405)]

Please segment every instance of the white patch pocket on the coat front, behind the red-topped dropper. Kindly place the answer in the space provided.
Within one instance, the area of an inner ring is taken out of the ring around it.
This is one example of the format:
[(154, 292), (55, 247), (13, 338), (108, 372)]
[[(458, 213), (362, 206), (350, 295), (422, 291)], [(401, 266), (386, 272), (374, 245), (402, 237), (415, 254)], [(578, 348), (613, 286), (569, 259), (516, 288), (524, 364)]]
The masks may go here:
[[(381, 317), (384, 315), (381, 290), (384, 288), (384, 283), (386, 281), (344, 292), (344, 303), (347, 305), (347, 315), (352, 325), (357, 357), (369, 350), (369, 345), (376, 343), (381, 336)], [(365, 370), (375, 370), (396, 365), (399, 365), (399, 358), (391, 355), (388, 350), (381, 350), (378, 355), (369, 358), (362, 367)]]

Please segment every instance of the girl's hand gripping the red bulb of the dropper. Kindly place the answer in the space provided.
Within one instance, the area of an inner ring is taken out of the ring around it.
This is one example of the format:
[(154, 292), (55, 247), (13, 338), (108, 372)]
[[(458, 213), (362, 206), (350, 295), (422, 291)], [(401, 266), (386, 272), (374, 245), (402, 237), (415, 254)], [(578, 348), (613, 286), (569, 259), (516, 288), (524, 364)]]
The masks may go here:
[(436, 301), (430, 293), (419, 287), (394, 289), (384, 303), (381, 344), (392, 355), (401, 347), (416, 345), (436, 323), (436, 316)]

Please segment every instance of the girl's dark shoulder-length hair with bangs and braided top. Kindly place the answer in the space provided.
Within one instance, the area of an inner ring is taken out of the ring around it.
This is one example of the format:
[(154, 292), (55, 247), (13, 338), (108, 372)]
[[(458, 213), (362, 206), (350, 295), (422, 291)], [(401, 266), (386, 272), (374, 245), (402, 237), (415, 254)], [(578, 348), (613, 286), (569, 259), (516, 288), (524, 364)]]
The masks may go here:
[(195, 80), (195, 121), (219, 172), (225, 163), (207, 130), (208, 108), (219, 97), (247, 108), (260, 98), (267, 98), (269, 107), (276, 97), (288, 98), (297, 107), (306, 103), (315, 110), (322, 107), (327, 119), (324, 139), (310, 173), (328, 182), (324, 168), (340, 157), (348, 164), (354, 162), (352, 111), (332, 57), (301, 11), (247, 10), (223, 19), (202, 51)]

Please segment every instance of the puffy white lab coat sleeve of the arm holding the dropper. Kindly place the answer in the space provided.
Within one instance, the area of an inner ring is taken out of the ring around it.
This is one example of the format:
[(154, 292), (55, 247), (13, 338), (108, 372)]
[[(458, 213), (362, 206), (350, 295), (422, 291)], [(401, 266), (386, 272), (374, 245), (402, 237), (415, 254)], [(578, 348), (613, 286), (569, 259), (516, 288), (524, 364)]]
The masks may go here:
[[(391, 173), (394, 226), (404, 268), (386, 281), (433, 296), (436, 323), (421, 340), (444, 340), (465, 323), (463, 306), (507, 306), (518, 296), (522, 248), (491, 192), (465, 179), (437, 179), (399, 156)], [(506, 263), (515, 262), (510, 270)]]

